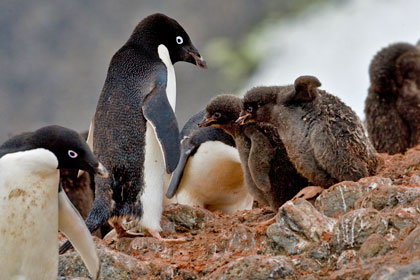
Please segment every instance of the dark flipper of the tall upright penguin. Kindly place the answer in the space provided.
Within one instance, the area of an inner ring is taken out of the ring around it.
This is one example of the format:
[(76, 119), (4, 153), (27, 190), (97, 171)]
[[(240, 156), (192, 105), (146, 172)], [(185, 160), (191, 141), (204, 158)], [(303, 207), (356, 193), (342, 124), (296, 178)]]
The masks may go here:
[(160, 143), (166, 172), (172, 173), (178, 164), (181, 150), (179, 129), (175, 113), (169, 104), (165, 88), (162, 85), (155, 86), (146, 96), (142, 109), (144, 117), (152, 124)]

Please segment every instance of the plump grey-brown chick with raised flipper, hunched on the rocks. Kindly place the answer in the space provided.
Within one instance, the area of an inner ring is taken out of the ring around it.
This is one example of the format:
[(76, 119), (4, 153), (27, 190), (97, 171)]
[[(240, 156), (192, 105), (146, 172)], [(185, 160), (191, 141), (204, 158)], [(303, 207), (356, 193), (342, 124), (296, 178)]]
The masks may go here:
[(374, 175), (376, 152), (362, 123), (320, 85), (301, 76), (294, 85), (253, 88), (243, 98), (240, 122), (274, 125), (297, 171), (317, 186)]

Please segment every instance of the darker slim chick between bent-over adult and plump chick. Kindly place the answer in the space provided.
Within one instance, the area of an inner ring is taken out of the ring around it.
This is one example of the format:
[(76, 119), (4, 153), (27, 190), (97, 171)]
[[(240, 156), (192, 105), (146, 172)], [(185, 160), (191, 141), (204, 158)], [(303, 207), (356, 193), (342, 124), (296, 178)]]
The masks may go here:
[(276, 129), (268, 124), (239, 126), (241, 99), (219, 95), (206, 107), (203, 126), (220, 127), (235, 139), (250, 193), (277, 212), (287, 200), (308, 185), (287, 156)]

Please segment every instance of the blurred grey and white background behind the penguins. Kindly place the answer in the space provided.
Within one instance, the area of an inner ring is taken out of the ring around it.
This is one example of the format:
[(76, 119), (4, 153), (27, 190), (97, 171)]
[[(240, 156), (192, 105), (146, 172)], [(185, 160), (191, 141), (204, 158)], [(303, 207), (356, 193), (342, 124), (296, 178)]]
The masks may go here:
[(175, 18), (209, 69), (177, 63), (180, 128), (219, 93), (317, 76), (363, 119), (373, 55), (420, 39), (416, 0), (2, 0), (0, 142), (47, 124), (87, 130), (112, 55), (144, 17)]

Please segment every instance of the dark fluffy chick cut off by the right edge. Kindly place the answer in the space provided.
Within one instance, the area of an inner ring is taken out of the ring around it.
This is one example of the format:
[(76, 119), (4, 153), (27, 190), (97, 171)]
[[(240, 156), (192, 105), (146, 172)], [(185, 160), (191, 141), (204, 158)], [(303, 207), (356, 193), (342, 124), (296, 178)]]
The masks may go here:
[(420, 143), (420, 49), (407, 43), (383, 48), (372, 59), (369, 75), (369, 138), (380, 153), (404, 153)]

